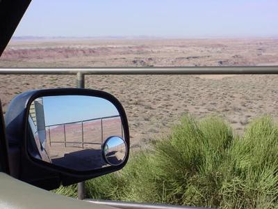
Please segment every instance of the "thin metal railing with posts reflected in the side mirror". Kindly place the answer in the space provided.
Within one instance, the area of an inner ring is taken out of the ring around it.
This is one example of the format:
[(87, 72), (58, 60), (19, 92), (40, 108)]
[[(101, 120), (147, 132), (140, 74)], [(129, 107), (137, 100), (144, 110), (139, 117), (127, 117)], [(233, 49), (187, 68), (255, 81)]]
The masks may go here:
[[(74, 121), (74, 122), (70, 122), (70, 123), (58, 123), (58, 124), (53, 124), (53, 125), (47, 125), (45, 126), (45, 130), (46, 132), (48, 132), (48, 136), (49, 136), (49, 146), (51, 146), (51, 143), (54, 144), (65, 144), (65, 147), (67, 147), (67, 144), (82, 144), (82, 148), (84, 148), (84, 144), (103, 144), (104, 143), (104, 127), (103, 127), (103, 120), (105, 119), (110, 119), (110, 118), (120, 118), (119, 115), (117, 116), (108, 116), (108, 117), (102, 117), (102, 118), (92, 118), (90, 120), (84, 120), (84, 121)], [(84, 142), (84, 128), (83, 128), (83, 123), (85, 122), (90, 122), (90, 121), (99, 121), (100, 120), (100, 124), (101, 124), (101, 143), (92, 143), (92, 142)], [(66, 134), (66, 125), (69, 124), (76, 124), (76, 123), (81, 123), (81, 141), (67, 141), (67, 134)], [(63, 125), (63, 137), (64, 137), (64, 141), (51, 141), (51, 128), (50, 127), (54, 127), (54, 126), (62, 126)], [(122, 126), (121, 126), (122, 127)], [(48, 130), (48, 131), (47, 131)], [(122, 129), (122, 137), (124, 137), (124, 130)]]

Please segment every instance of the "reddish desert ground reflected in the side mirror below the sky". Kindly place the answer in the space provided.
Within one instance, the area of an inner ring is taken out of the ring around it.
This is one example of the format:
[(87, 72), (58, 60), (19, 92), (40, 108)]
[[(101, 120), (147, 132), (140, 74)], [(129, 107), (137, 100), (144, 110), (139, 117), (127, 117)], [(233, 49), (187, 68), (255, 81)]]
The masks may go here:
[[(46, 136), (47, 136), (47, 146), (49, 148), (49, 157), (52, 161), (55, 159), (64, 157), (70, 157), (70, 154), (76, 152), (81, 153), (82, 150), (85, 155), (81, 155), (86, 159), (86, 152), (92, 150), (91, 158), (92, 160), (85, 160), (86, 162), (94, 162), (99, 165), (94, 165), (93, 167), (101, 167), (105, 164), (102, 161), (102, 145), (104, 141), (111, 136), (122, 136), (122, 122), (120, 117), (117, 118), (106, 118), (96, 121), (83, 122), (83, 127), (81, 123), (70, 123), (65, 124), (65, 129), (63, 125), (47, 126)], [(72, 157), (74, 159), (74, 157)], [(56, 160), (58, 162), (58, 160)], [(80, 161), (81, 162), (81, 161)], [(92, 164), (90, 164), (92, 166)]]

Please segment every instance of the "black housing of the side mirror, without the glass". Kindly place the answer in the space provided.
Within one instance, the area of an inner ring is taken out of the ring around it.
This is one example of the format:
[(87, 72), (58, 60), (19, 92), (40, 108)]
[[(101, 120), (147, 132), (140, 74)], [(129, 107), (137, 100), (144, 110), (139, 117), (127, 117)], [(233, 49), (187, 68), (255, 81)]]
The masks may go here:
[[(117, 109), (122, 121), (122, 132), (126, 143), (126, 157), (122, 164), (110, 167), (99, 167), (94, 170), (74, 171), (64, 167), (58, 167), (42, 160), (35, 159), (28, 152), (28, 116), (31, 103), (41, 97), (82, 95), (88, 97), (103, 98), (111, 102)], [(124, 167), (129, 159), (129, 126), (122, 104), (111, 94), (104, 91), (83, 88), (55, 88), (26, 91), (17, 95), (5, 116), (6, 139), (9, 146), (10, 175), (31, 185), (42, 189), (56, 189), (61, 184), (71, 185), (90, 178), (102, 176), (118, 171)]]

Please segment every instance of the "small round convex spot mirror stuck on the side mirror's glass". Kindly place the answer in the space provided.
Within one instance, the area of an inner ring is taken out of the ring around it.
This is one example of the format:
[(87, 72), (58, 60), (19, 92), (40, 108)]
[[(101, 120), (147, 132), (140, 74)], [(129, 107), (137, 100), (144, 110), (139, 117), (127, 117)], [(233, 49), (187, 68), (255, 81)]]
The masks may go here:
[(121, 137), (109, 137), (104, 142), (102, 152), (104, 160), (113, 166), (118, 166), (124, 162), (126, 158), (126, 142)]

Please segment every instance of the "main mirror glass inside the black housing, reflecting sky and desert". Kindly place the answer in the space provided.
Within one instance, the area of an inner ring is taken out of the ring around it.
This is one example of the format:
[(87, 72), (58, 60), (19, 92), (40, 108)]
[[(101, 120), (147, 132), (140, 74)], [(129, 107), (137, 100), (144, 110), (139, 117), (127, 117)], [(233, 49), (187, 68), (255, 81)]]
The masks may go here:
[(34, 100), (29, 109), (27, 139), (33, 157), (76, 171), (119, 165), (124, 160), (121, 153), (126, 153), (125, 146), (117, 153), (117, 162), (104, 159), (105, 147), (111, 149), (111, 143), (119, 139), (125, 144), (122, 121), (114, 104), (91, 96)]

